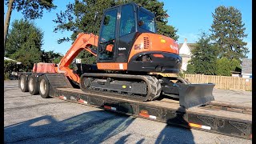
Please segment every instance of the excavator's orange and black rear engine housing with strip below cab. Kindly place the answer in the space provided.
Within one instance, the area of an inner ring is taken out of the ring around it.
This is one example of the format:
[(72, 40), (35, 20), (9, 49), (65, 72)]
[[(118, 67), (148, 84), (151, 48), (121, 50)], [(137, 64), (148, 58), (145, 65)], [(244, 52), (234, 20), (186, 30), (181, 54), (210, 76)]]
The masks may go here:
[[(114, 49), (111, 47), (111, 50)], [(182, 64), (182, 59), (178, 56), (178, 43), (161, 34), (142, 33), (135, 38), (133, 46), (130, 48), (126, 62), (97, 62), (98, 70), (130, 70), (146, 72), (172, 72), (178, 73), (178, 67)], [(141, 60), (138, 57), (143, 54), (149, 55), (151, 61)], [(152, 59), (154, 61), (152, 61)], [(167, 63), (173, 62), (174, 67), (168, 67)], [(166, 68), (162, 64), (166, 64)], [(159, 70), (155, 70), (157, 67)], [(148, 67), (144, 69), (145, 67)], [(151, 68), (149, 68), (151, 67)]]

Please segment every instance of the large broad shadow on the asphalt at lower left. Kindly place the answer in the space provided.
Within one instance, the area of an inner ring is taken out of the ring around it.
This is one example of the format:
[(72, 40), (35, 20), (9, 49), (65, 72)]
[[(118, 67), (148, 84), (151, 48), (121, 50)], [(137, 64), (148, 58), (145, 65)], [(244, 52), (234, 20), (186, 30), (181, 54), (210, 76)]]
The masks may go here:
[[(97, 110), (58, 121), (46, 115), (4, 128), (5, 143), (100, 143), (126, 130), (134, 118)], [(124, 136), (117, 143), (126, 142)]]

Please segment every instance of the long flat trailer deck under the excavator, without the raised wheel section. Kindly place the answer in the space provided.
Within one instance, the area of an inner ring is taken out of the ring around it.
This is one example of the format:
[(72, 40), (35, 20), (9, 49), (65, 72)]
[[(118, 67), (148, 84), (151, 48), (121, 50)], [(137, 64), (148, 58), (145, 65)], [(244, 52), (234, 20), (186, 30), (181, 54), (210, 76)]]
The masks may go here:
[(63, 100), (97, 106), (122, 114), (133, 115), (174, 126), (182, 126), (238, 138), (252, 137), (251, 108), (223, 102), (210, 102), (206, 106), (188, 110), (178, 102), (163, 98), (158, 101), (138, 102), (115, 97), (114, 94), (84, 93), (80, 89), (56, 88), (51, 96)]

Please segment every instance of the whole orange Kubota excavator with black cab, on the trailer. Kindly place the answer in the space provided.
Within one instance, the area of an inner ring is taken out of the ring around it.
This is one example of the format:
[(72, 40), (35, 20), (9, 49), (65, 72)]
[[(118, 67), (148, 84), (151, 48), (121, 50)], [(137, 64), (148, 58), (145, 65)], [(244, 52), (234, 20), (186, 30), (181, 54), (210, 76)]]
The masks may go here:
[[(37, 63), (33, 72), (63, 73), (82, 91), (138, 101), (165, 96), (178, 98), (185, 108), (213, 101), (214, 84), (190, 84), (168, 76), (178, 74), (182, 66), (178, 43), (156, 32), (155, 16), (149, 10), (133, 2), (114, 6), (104, 11), (99, 36), (78, 34), (58, 65)], [(96, 56), (97, 65), (86, 65), (90, 69), (78, 74), (69, 66), (82, 50)]]

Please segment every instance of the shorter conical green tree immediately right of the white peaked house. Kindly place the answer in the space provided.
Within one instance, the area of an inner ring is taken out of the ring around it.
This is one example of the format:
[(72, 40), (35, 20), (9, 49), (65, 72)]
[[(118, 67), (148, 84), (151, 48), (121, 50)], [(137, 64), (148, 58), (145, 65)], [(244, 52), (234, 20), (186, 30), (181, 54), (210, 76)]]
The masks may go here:
[(202, 33), (202, 37), (191, 51), (192, 57), (187, 66), (188, 74), (214, 75), (216, 71), (216, 60), (218, 50), (210, 43), (210, 37)]

